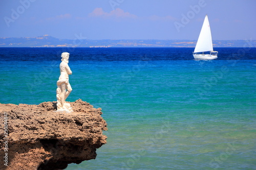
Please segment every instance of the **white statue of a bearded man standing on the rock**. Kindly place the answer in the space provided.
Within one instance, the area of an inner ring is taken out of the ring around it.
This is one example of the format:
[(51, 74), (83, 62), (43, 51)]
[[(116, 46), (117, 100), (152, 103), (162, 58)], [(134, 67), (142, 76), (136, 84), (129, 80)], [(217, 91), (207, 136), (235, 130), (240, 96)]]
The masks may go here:
[(61, 54), (61, 63), (59, 64), (60, 76), (57, 81), (57, 111), (68, 111), (71, 112), (72, 107), (69, 103), (66, 103), (66, 99), (72, 91), (71, 85), (69, 84), (69, 75), (72, 75), (72, 71), (68, 65), (69, 53)]

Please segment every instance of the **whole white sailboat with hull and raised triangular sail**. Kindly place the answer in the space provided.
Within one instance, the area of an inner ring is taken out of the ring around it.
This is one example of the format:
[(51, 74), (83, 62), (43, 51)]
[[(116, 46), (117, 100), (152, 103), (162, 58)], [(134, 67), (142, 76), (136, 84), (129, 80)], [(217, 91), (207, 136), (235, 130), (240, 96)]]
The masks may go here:
[[(205, 52), (207, 53), (205, 54)], [(208, 16), (205, 15), (204, 23), (197, 40), (197, 45), (195, 47), (193, 56), (195, 59), (212, 60), (218, 58), (217, 54), (218, 52), (214, 51), (214, 48), (212, 47), (209, 20)]]

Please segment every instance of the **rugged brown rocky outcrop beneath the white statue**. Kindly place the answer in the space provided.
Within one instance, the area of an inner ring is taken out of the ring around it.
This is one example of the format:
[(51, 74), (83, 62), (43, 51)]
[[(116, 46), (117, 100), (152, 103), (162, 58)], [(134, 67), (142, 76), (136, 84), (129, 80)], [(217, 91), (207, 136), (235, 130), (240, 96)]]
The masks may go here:
[(0, 169), (63, 169), (95, 159), (108, 130), (101, 108), (80, 99), (70, 105), (71, 113), (56, 112), (56, 102), (0, 104)]

